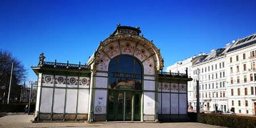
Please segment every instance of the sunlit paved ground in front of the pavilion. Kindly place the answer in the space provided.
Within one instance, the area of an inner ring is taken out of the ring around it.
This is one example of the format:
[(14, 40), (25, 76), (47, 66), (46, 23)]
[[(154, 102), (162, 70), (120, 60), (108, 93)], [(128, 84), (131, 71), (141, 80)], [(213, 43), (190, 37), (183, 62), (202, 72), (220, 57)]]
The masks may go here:
[(85, 122), (44, 122), (29, 123), (33, 115), (9, 114), (0, 118), (0, 127), (189, 127), (189, 128), (207, 128), (220, 126), (205, 125), (203, 123), (85, 123)]

